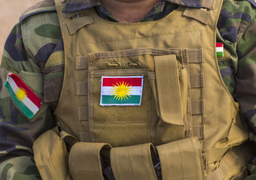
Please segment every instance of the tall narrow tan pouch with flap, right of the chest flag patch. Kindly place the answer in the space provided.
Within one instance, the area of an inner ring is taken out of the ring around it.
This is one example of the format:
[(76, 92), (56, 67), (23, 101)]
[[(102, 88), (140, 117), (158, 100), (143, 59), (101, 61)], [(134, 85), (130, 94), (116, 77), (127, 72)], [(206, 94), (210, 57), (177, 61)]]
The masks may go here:
[(185, 137), (187, 70), (178, 64), (175, 55), (156, 56), (154, 60), (156, 85), (151, 80), (151, 87), (153, 94), (157, 94), (155, 100), (160, 116), (156, 144), (163, 144)]

